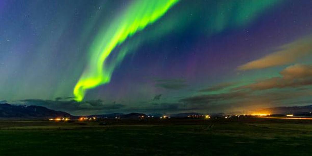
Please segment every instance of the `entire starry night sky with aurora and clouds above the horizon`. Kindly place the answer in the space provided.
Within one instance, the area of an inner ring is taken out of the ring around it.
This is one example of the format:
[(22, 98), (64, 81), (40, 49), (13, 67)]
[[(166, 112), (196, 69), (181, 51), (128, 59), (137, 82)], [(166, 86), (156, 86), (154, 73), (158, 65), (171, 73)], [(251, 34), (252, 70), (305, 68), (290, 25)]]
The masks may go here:
[(1, 0), (0, 102), (73, 115), (312, 104), (312, 1)]

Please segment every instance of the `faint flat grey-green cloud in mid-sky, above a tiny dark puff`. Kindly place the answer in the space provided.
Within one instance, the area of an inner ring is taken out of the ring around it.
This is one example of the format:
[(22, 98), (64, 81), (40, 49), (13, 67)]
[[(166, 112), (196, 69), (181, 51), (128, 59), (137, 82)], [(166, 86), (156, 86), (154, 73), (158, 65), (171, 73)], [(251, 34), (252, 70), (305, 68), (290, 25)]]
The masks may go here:
[(185, 88), (187, 84), (181, 79), (158, 79), (155, 86), (169, 90), (179, 90)]

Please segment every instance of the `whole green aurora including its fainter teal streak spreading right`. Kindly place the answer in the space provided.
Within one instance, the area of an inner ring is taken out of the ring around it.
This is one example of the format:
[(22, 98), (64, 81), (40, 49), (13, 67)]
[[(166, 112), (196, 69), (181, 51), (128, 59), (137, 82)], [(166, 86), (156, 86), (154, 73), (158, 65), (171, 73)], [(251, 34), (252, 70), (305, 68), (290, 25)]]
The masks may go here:
[[(136, 0), (115, 18), (108, 28), (103, 28), (90, 46), (89, 63), (74, 88), (75, 100), (82, 101), (86, 90), (109, 83), (115, 67), (124, 57), (149, 39), (158, 40), (170, 32), (179, 34), (192, 25), (204, 25), (205, 27), (194, 30), (194, 33), (206, 36), (225, 29), (246, 27), (259, 17), (263, 10), (281, 2), (280, 0), (237, 0), (226, 3), (210, 1), (210, 5), (214, 7), (207, 9), (202, 7), (201, 3), (181, 1), (179, 6), (187, 7), (176, 7), (175, 11), (162, 17), (178, 1)], [(192, 18), (189, 18), (190, 14), (193, 14)], [(157, 23), (160, 17), (162, 22)], [(152, 27), (147, 27), (152, 23), (154, 23)], [(142, 29), (144, 31), (131, 37)], [(129, 37), (131, 39), (125, 41)]]

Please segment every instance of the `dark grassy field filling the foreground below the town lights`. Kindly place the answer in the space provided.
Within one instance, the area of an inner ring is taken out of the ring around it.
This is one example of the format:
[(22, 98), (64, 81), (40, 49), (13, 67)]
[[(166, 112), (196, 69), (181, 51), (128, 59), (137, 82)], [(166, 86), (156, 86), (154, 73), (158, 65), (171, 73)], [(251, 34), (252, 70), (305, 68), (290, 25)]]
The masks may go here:
[(0, 155), (312, 155), (312, 123), (287, 119), (0, 121)]

